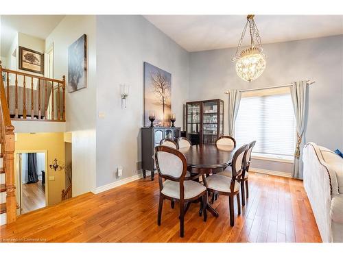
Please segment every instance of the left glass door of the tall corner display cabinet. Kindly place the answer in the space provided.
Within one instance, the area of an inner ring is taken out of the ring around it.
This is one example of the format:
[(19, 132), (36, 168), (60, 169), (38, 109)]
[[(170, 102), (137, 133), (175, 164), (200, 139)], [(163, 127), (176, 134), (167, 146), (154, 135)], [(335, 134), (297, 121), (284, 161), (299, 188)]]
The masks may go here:
[(187, 103), (187, 137), (193, 145), (200, 143), (200, 103)]

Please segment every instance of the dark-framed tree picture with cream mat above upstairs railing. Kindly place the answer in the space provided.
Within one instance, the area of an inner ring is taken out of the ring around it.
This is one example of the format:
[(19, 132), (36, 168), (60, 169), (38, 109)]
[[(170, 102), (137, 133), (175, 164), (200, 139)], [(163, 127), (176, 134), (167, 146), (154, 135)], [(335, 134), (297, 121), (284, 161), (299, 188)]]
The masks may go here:
[(44, 53), (19, 46), (19, 69), (44, 74)]

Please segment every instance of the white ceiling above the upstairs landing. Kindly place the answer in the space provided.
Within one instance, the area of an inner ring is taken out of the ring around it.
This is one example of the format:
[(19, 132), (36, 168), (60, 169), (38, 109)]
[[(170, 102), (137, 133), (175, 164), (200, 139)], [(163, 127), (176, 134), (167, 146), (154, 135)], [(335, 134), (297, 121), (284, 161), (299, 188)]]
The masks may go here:
[(16, 32), (45, 39), (64, 15), (1, 15), (1, 56), (8, 53)]

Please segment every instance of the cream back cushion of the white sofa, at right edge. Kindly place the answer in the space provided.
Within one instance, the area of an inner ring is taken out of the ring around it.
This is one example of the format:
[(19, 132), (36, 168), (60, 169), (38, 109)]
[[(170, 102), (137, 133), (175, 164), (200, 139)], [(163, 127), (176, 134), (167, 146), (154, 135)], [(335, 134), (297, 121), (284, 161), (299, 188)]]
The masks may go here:
[(326, 162), (329, 169), (336, 174), (338, 192), (343, 193), (343, 158), (325, 147), (320, 147), (320, 151), (324, 162)]

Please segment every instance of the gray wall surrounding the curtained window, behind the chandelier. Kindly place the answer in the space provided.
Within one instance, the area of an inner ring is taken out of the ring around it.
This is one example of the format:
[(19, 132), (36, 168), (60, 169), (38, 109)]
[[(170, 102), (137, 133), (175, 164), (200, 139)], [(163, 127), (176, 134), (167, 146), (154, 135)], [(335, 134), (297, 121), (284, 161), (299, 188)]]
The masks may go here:
[[(227, 89), (277, 86), (311, 79), (316, 84), (309, 88), (305, 140), (330, 149), (343, 149), (343, 36), (268, 44), (263, 49), (267, 67), (251, 83), (236, 75), (235, 64), (231, 62), (234, 48), (190, 53), (189, 99), (223, 99), (227, 114), (228, 99), (224, 95)], [(228, 124), (226, 117), (224, 124)], [(270, 169), (270, 162), (256, 161), (256, 164), (259, 169)], [(278, 162), (272, 167), (290, 172), (292, 165), (285, 165)]]

